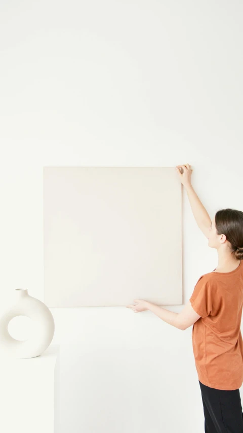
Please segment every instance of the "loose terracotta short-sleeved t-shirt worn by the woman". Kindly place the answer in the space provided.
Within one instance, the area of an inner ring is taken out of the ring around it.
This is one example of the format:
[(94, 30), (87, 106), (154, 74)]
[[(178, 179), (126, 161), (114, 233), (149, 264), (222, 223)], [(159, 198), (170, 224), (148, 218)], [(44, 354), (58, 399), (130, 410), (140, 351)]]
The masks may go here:
[(231, 272), (202, 275), (190, 297), (201, 317), (193, 324), (198, 379), (211, 388), (233, 390), (243, 382), (243, 265)]

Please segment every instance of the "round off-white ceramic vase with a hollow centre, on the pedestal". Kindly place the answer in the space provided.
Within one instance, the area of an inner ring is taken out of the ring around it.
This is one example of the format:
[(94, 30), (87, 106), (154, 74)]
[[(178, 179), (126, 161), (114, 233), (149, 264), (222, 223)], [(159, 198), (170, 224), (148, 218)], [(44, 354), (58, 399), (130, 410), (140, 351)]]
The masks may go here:
[[(27, 316), (33, 320), (33, 335), (24, 341), (9, 334), (8, 324), (16, 316)], [(39, 299), (28, 294), (27, 289), (15, 289), (15, 302), (0, 317), (0, 349), (11, 358), (34, 358), (41, 355), (51, 344), (55, 324), (51, 311)]]

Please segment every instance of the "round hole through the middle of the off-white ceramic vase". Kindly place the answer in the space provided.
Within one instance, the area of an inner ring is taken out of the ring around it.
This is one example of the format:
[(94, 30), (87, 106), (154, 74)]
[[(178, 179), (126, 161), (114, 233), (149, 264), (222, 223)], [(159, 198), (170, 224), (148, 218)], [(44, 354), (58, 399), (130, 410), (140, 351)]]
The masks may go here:
[(26, 341), (32, 337), (34, 328), (33, 320), (23, 315), (13, 317), (8, 324), (9, 334), (19, 341)]

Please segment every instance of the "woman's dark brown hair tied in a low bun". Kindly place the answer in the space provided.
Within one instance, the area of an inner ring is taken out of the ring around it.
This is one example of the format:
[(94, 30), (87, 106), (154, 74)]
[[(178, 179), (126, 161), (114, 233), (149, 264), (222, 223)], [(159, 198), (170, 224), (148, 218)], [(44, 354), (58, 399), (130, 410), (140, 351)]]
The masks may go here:
[(225, 235), (230, 243), (231, 254), (243, 259), (243, 212), (236, 209), (221, 209), (215, 214), (217, 235)]

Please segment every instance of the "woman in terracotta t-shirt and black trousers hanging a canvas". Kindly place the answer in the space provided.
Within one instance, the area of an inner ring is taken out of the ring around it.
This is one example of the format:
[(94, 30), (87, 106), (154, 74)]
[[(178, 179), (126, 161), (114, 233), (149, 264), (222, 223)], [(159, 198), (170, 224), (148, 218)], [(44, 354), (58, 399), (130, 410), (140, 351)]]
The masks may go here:
[[(182, 169), (182, 172), (180, 169)], [(206, 433), (243, 433), (239, 388), (243, 382), (243, 212), (219, 210), (211, 221), (191, 185), (191, 166), (177, 165), (198, 227), (218, 252), (217, 268), (199, 277), (188, 304), (174, 313), (144, 299), (129, 305), (150, 310), (179, 329), (193, 325), (192, 344), (203, 399)]]

